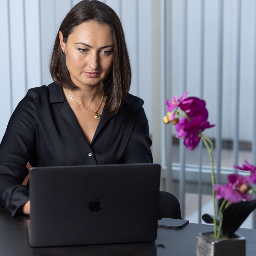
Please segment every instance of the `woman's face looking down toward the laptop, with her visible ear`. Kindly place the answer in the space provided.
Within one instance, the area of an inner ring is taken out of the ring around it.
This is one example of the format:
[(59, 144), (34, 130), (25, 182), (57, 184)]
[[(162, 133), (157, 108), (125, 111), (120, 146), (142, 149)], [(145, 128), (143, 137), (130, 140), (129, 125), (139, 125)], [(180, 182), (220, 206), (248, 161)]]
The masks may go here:
[(78, 87), (94, 86), (104, 80), (113, 65), (113, 34), (108, 25), (86, 21), (78, 25), (60, 45), (72, 82)]

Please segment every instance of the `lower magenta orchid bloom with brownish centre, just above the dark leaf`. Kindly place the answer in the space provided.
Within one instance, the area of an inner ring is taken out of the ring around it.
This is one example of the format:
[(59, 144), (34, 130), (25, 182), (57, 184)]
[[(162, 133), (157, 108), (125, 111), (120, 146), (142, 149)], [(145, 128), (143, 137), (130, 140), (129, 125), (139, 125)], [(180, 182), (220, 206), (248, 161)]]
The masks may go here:
[(246, 184), (248, 186), (248, 177), (234, 173), (229, 174), (227, 178), (229, 180), (228, 184), (213, 185), (213, 189), (217, 192), (216, 199), (224, 198), (231, 203), (239, 203), (243, 199), (252, 201), (252, 195), (240, 192), (241, 185)]

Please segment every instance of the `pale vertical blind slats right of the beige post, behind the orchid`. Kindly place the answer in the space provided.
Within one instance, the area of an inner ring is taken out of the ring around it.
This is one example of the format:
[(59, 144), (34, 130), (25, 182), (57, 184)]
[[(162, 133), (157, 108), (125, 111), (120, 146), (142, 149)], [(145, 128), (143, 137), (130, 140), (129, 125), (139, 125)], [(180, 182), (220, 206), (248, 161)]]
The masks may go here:
[[(170, 9), (171, 31), (165, 33), (171, 34), (166, 42), (171, 48), (171, 64), (166, 68), (171, 72), (172, 95), (190, 91), (190, 96), (206, 100), (209, 120), (216, 127), (204, 133), (216, 142), (216, 182), (220, 183), (223, 140), (233, 141), (233, 164), (241, 164), (239, 141), (252, 143), (252, 162), (256, 163), (256, 1), (172, 0)], [(172, 161), (179, 162), (179, 200), (184, 217), (186, 151), (182, 142), (179, 150), (180, 159)], [(200, 222), (201, 144), (198, 155)], [(229, 170), (235, 171), (232, 166)]]

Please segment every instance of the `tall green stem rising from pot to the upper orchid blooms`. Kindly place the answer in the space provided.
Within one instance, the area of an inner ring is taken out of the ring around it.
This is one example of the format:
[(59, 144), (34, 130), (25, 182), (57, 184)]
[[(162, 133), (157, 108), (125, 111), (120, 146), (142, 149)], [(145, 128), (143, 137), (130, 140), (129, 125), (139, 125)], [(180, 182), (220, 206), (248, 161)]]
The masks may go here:
[[(210, 156), (211, 170), (212, 170), (212, 186), (213, 186), (215, 184), (214, 165), (213, 165), (213, 157), (212, 157), (213, 143), (208, 137), (204, 136), (201, 132), (199, 132), (199, 136), (202, 138)], [(210, 143), (211, 148), (209, 148), (207, 141)], [(212, 188), (212, 197), (213, 197), (213, 211), (214, 211), (214, 215), (213, 215), (214, 216), (213, 217), (214, 236), (216, 237), (217, 236), (216, 204), (215, 204), (215, 190), (213, 188)]]

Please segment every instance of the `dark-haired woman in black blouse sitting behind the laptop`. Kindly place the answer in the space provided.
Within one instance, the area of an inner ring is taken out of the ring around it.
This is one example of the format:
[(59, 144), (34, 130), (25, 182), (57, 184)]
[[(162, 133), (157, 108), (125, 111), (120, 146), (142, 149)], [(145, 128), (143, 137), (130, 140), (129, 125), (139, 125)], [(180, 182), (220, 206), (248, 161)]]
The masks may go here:
[[(31, 166), (153, 161), (143, 101), (129, 94), (122, 25), (109, 6), (85, 0), (70, 10), (55, 40), (50, 71), (54, 82), (28, 90), (0, 145), (1, 204), (12, 216), (17, 210), (30, 213), (28, 185), (22, 185), (28, 161)], [(162, 193), (161, 202), (175, 207), (160, 211), (160, 218), (180, 218), (174, 196)]]

